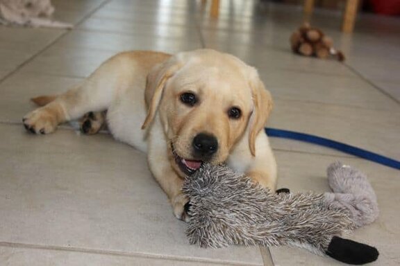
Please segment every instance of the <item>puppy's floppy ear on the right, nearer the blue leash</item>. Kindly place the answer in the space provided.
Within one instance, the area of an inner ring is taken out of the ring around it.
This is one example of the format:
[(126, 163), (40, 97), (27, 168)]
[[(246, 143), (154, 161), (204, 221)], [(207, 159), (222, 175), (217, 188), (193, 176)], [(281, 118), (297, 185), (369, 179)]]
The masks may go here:
[(265, 89), (256, 69), (251, 69), (251, 72), (250, 87), (254, 107), (249, 122), (249, 148), (251, 154), (256, 156), (256, 138), (264, 130), (273, 103), (271, 94)]

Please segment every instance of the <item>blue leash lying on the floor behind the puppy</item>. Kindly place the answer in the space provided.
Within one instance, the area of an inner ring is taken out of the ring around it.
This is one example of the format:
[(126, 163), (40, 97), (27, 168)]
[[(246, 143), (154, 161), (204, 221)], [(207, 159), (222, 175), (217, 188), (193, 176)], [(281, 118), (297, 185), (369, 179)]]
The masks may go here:
[(305, 141), (308, 143), (313, 143), (317, 145), (322, 145), (335, 150), (340, 150), (341, 152), (346, 152), (348, 154), (367, 159), (369, 161), (374, 161), (376, 163), (381, 163), (384, 166), (389, 166), (394, 169), (400, 170), (400, 161), (384, 157), (380, 154), (374, 152), (369, 152), (351, 145), (347, 145), (338, 141), (332, 141), (331, 139), (325, 139), (320, 136), (313, 136), (310, 134), (304, 134), (299, 132), (293, 132), (289, 130), (277, 130), (275, 128), (265, 127), (265, 133), (268, 136), (276, 136), (278, 138), (294, 139), (296, 141)]

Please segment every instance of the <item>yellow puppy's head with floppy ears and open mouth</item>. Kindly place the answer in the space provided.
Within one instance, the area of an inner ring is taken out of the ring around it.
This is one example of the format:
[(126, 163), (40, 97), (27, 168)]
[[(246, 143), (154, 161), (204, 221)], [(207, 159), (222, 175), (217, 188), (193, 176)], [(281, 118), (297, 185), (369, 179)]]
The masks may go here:
[(256, 69), (206, 49), (178, 53), (152, 69), (147, 103), (143, 128), (158, 111), (169, 159), (181, 176), (192, 174), (204, 161), (224, 162), (243, 137), (254, 156), (256, 136), (272, 108)]

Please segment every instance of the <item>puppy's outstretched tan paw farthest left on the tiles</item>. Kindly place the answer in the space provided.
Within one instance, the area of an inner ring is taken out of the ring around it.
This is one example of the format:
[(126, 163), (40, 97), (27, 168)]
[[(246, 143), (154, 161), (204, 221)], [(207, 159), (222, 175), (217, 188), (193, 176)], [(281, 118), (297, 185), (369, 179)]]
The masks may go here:
[(22, 123), (26, 130), (33, 134), (49, 134), (56, 130), (58, 125), (57, 117), (43, 108), (36, 109), (24, 116)]

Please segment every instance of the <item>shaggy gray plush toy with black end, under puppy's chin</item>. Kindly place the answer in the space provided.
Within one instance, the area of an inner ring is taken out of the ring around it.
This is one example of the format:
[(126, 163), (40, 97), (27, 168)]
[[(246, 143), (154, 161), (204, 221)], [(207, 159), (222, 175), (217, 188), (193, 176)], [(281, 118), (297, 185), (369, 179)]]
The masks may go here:
[(274, 193), (226, 166), (205, 164), (183, 185), (190, 198), (190, 243), (292, 245), (349, 264), (376, 260), (374, 247), (340, 237), (377, 218), (372, 186), (361, 172), (339, 162), (327, 172), (333, 193)]

